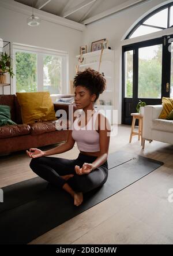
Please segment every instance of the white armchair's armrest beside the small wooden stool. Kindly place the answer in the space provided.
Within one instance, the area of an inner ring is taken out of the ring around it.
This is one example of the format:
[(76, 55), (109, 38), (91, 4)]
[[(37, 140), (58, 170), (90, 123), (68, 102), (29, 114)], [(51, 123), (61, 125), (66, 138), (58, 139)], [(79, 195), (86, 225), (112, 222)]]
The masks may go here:
[(152, 120), (157, 119), (163, 109), (162, 105), (148, 105), (144, 107), (143, 138), (152, 139)]

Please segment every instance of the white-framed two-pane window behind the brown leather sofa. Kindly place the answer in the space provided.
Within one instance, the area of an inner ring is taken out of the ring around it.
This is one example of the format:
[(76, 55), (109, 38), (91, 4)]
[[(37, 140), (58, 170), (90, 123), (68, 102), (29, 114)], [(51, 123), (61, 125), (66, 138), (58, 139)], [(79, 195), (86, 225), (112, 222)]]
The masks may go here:
[[(14, 47), (14, 93), (49, 91), (65, 94), (67, 84), (67, 54), (29, 47)], [(63, 87), (62, 87), (63, 84)]]

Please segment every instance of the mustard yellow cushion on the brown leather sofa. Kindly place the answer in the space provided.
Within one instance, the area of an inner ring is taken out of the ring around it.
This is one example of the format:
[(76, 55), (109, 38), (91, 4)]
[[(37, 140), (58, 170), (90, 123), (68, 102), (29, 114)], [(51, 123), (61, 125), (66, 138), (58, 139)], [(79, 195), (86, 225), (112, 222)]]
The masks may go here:
[(57, 120), (50, 92), (16, 92), (23, 124)]

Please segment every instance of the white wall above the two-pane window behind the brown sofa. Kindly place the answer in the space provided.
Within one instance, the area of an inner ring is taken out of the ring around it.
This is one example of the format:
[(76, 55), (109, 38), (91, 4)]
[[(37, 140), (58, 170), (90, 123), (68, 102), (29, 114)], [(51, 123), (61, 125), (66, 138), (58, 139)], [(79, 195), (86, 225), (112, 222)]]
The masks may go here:
[[(82, 31), (42, 20), (38, 27), (29, 27), (26, 14), (0, 6), (0, 38), (11, 43), (29, 44), (65, 51), (69, 54), (69, 79), (75, 75), (76, 55), (82, 40)], [(9, 87), (5, 87), (5, 94)], [(2, 94), (2, 87), (0, 88)]]

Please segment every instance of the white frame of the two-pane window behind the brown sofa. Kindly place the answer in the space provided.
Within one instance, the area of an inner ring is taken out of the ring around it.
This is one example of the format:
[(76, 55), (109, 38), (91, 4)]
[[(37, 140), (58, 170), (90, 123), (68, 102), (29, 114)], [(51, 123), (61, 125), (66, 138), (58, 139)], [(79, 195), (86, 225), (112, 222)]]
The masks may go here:
[[(13, 43), (13, 71), (16, 74), (16, 52), (37, 54), (37, 91), (43, 91), (43, 55), (61, 58), (61, 94), (69, 94), (69, 55), (65, 51), (45, 49), (36, 46)], [(16, 76), (13, 77), (12, 93), (16, 94)]]

